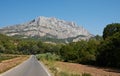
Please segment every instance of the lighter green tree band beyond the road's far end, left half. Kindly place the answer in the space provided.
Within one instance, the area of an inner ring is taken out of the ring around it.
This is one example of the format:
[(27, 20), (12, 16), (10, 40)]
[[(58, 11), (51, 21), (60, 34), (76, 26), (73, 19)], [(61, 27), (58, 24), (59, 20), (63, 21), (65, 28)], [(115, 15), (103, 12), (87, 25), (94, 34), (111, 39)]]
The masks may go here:
[(46, 52), (52, 53), (59, 49), (58, 45), (43, 43), (40, 40), (16, 39), (0, 34), (0, 53), (28, 55)]

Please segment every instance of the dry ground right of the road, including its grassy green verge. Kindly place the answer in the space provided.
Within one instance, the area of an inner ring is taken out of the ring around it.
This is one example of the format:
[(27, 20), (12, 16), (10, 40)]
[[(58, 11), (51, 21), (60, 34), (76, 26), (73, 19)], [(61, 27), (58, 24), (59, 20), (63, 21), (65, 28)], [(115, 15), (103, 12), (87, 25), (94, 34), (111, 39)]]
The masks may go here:
[(39, 59), (49, 68), (52, 76), (120, 76), (120, 70), (60, 62), (49, 58), (44, 55)]

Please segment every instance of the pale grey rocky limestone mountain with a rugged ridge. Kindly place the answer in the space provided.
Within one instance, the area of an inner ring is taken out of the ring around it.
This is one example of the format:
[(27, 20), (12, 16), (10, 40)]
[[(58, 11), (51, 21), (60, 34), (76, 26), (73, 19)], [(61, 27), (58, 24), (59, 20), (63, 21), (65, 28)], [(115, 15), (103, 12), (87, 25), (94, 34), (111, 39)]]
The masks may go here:
[(86, 40), (93, 36), (74, 22), (43, 16), (23, 24), (4, 27), (0, 29), (0, 33), (22, 38), (71, 39), (72, 41)]

